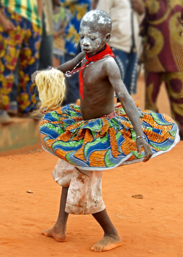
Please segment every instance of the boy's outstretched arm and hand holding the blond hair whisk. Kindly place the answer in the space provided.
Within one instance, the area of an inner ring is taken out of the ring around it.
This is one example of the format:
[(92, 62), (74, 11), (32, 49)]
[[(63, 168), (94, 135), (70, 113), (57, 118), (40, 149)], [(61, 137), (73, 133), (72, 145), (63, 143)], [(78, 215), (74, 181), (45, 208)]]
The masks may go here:
[[(79, 53), (76, 57), (74, 57), (72, 60), (65, 62), (63, 64), (61, 64), (58, 67), (55, 67), (55, 69), (62, 71), (63, 73), (66, 73), (66, 71), (72, 71), (73, 68), (82, 60), (84, 59), (85, 53), (81, 52)], [(79, 66), (77, 67), (79, 68)], [(41, 71), (35, 71), (32, 75), (31, 75), (31, 80), (33, 83), (35, 83), (35, 77), (37, 75), (37, 73), (40, 73)]]

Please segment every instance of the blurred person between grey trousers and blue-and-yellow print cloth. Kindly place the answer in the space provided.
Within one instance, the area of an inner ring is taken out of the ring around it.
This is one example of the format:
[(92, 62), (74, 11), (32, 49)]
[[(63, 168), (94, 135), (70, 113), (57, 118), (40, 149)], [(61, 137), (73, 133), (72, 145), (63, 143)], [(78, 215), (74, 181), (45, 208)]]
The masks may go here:
[(53, 3), (53, 66), (64, 63), (64, 38), (65, 9), (60, 6), (60, 0), (52, 0)]

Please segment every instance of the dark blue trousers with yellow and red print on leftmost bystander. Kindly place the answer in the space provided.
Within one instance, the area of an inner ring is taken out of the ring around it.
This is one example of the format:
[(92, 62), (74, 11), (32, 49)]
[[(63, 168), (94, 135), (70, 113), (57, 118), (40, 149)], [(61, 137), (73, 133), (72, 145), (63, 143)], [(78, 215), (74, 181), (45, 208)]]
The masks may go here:
[(35, 84), (30, 78), (38, 66), (41, 28), (9, 8), (3, 8), (3, 13), (16, 30), (7, 33), (0, 25), (0, 109), (10, 108), (14, 71), (19, 60), (18, 109), (28, 115), (36, 104)]

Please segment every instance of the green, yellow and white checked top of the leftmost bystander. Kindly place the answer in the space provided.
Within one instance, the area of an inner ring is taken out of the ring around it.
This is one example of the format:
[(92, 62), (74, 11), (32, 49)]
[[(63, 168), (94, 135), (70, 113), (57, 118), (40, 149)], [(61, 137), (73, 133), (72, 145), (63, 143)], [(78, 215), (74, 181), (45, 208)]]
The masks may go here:
[(41, 27), (37, 13), (37, 0), (1, 0), (1, 5)]

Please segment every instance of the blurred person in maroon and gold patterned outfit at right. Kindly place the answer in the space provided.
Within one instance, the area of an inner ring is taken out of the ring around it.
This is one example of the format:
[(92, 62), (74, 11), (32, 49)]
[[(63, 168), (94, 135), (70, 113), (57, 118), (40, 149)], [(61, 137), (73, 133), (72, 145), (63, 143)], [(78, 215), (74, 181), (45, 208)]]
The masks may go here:
[(172, 117), (179, 125), (183, 140), (183, 53), (181, 0), (143, 0), (146, 14), (141, 24), (143, 62), (146, 81), (145, 109), (158, 112), (157, 96), (164, 81)]

